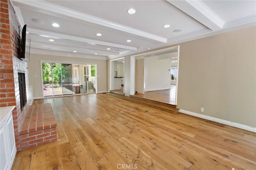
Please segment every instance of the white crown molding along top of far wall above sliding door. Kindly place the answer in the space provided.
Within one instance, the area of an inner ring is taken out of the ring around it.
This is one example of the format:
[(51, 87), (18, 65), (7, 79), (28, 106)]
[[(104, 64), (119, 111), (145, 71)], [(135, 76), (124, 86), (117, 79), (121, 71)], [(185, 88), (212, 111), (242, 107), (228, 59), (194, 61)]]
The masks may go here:
[(77, 57), (77, 58), (84, 58), (84, 59), (106, 60), (106, 57), (104, 57), (104, 56), (81, 55), (81, 54), (74, 54), (74, 53), (67, 53), (67, 52), (60, 52), (60, 51), (48, 51), (48, 50), (42, 50), (42, 49), (31, 49), (31, 51), (30, 51), (30, 59), (33, 58), (33, 54), (54, 55), (54, 56), (64, 56), (64, 57)]

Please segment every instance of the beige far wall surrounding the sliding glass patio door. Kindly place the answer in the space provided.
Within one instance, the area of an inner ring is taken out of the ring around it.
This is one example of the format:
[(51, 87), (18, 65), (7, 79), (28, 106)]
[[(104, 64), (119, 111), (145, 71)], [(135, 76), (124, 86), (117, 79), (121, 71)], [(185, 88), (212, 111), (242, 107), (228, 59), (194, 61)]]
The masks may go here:
[(29, 78), (29, 83), (34, 85), (33, 86), (34, 87), (34, 98), (42, 98), (42, 75), (41, 75), (40, 60), (81, 63), (81, 64), (97, 64), (97, 75), (99, 76), (99, 77), (97, 77), (98, 78), (98, 86), (97, 86), (98, 92), (106, 92), (106, 90), (107, 90), (106, 60), (30, 54), (30, 63), (28, 63), (28, 78)]

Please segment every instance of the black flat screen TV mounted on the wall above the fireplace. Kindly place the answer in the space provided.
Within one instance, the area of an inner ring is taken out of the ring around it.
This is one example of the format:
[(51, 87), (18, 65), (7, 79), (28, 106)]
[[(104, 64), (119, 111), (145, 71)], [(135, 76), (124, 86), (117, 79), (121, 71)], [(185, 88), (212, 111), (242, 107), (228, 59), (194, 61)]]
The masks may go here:
[(29, 37), (29, 49), (28, 53), (26, 54), (26, 32), (27, 32), (27, 25), (24, 25), (21, 32), (21, 39), (17, 37), (17, 48), (18, 48), (18, 58), (22, 61), (29, 62), (30, 59), (30, 37)]

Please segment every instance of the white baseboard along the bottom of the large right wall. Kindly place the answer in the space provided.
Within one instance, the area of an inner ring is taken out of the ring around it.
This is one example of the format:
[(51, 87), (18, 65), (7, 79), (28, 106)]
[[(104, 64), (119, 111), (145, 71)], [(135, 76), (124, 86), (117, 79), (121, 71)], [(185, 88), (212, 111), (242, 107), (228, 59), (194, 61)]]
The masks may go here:
[(226, 121), (226, 120), (218, 119), (218, 118), (215, 118), (215, 117), (201, 115), (201, 114), (198, 114), (198, 113), (194, 113), (192, 111), (186, 111), (186, 110), (182, 110), (182, 109), (180, 109), (179, 112), (187, 114), (187, 115), (192, 115), (192, 116), (195, 116), (195, 117), (200, 117), (202, 119), (206, 119), (206, 120), (210, 120), (210, 121), (215, 121), (215, 122), (218, 122), (218, 123), (222, 123), (224, 125), (229, 125), (229, 126), (232, 126), (232, 127), (237, 127), (239, 129), (244, 129), (246, 131), (250, 131), (250, 132), (256, 133), (256, 128), (255, 127), (250, 127), (250, 126), (247, 126), (247, 125), (242, 125), (242, 124), (239, 124), (239, 123), (234, 123), (232, 121)]

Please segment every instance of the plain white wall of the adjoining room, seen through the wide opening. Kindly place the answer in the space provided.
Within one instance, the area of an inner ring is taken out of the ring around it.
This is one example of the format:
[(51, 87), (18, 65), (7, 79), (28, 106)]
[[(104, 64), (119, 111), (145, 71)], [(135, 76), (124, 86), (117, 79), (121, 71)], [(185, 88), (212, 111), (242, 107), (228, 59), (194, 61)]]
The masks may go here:
[(146, 64), (146, 92), (170, 89), (170, 59), (156, 57), (145, 58)]

